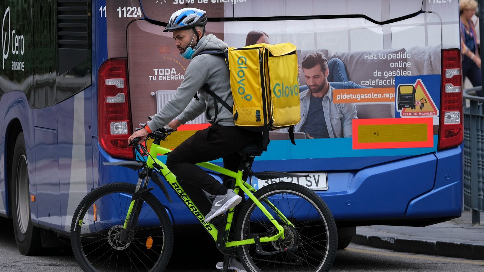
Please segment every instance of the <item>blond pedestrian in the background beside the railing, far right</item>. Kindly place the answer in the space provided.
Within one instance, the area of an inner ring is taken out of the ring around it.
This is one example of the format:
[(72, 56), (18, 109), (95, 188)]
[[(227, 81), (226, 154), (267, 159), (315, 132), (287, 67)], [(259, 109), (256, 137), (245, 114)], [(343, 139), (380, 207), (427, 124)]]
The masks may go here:
[[(462, 52), (462, 79), (469, 78), (472, 86), (481, 86), (481, 58), (477, 51), (476, 30), (471, 18), (476, 13), (475, 0), (460, 1), (460, 37)], [(482, 91), (477, 91), (483, 96)]]

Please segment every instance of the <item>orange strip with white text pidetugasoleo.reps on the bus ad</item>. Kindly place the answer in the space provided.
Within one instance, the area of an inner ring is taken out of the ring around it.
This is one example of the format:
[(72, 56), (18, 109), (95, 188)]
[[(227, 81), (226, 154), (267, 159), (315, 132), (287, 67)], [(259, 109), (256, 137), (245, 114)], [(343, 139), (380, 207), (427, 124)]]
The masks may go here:
[(334, 89), (333, 103), (395, 102), (394, 88)]

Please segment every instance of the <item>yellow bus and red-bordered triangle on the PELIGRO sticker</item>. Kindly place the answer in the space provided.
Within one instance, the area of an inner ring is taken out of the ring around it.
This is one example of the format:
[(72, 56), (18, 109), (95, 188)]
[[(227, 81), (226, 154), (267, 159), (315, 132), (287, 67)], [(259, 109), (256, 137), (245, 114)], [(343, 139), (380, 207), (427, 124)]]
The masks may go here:
[(396, 88), (397, 111), (401, 117), (437, 117), (439, 111), (422, 79), (415, 84), (399, 84)]

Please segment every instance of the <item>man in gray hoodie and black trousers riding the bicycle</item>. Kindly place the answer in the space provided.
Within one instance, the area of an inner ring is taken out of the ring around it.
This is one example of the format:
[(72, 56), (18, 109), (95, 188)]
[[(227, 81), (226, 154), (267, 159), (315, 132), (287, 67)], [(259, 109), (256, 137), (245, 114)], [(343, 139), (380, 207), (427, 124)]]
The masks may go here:
[[(182, 181), (215, 195), (212, 208), (205, 217), (205, 221), (209, 222), (239, 204), (242, 197), (235, 194), (232, 189), (227, 189), (195, 164), (222, 157), (225, 168), (237, 171), (241, 162), (238, 151), (249, 143), (257, 142), (260, 133), (236, 126), (233, 113), (214, 101), (206, 91), (201, 90), (207, 83), (216, 95), (228, 105), (233, 105), (225, 59), (219, 55), (198, 55), (204, 50), (225, 51), (228, 47), (215, 35), (205, 35), (206, 24), (206, 12), (196, 8), (184, 8), (171, 15), (163, 32), (173, 32), (173, 39), (180, 55), (185, 59), (191, 59), (191, 62), (176, 93), (143, 129), (128, 138), (128, 143), (135, 137), (141, 138), (142, 141), (149, 133), (165, 125), (176, 130), (181, 124), (192, 121), (205, 112), (208, 122), (212, 125), (197, 131), (170, 152), (166, 166)], [(193, 99), (197, 92), (199, 100)], [(214, 103), (218, 104), (218, 112), (215, 112)], [(233, 265), (235, 264), (232, 263), (231, 267)], [(240, 268), (237, 270), (242, 271), (242, 265)]]

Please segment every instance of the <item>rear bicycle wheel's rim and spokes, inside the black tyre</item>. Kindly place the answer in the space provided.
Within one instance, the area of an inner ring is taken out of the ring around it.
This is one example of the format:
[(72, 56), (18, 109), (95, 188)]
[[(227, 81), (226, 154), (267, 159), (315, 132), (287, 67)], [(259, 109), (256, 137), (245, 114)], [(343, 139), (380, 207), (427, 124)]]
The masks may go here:
[[(322, 211), (324, 207), (320, 207), (301, 192), (288, 189), (272, 190), (257, 199), (284, 227), (285, 239), (261, 243), (260, 249), (266, 253), (279, 252), (272, 255), (257, 253), (255, 244), (243, 246), (240, 257), (246, 265), (264, 272), (321, 271), (330, 248), (329, 228)], [(278, 216), (272, 207), (282, 212), (287, 220)], [(271, 230), (277, 233), (274, 228), (260, 208), (252, 202), (243, 218), (241, 239), (267, 236)]]

